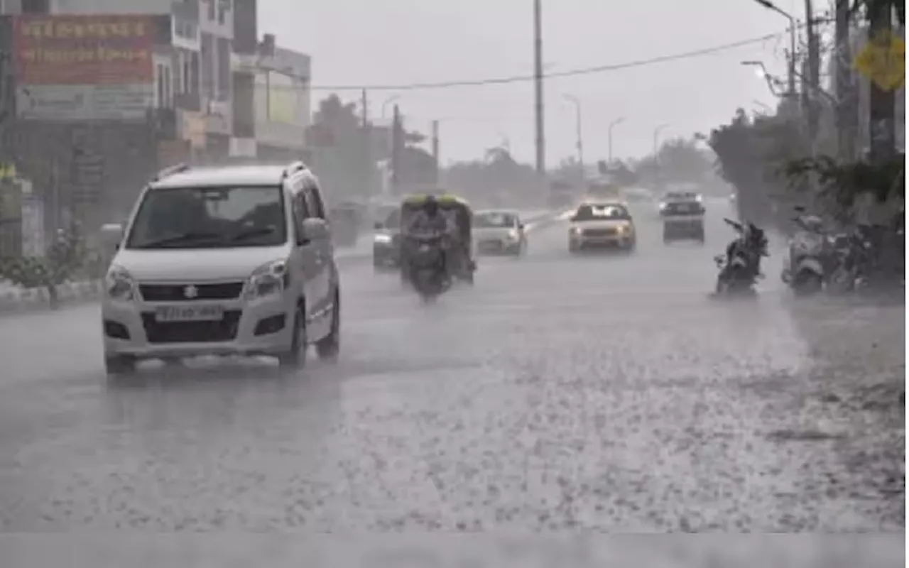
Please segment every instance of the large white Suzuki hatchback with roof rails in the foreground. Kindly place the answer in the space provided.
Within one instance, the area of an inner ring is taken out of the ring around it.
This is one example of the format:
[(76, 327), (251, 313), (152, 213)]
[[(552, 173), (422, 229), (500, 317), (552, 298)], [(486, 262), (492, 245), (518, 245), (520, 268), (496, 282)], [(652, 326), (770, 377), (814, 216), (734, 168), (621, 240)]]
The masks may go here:
[(143, 359), (340, 349), (340, 283), (325, 204), (302, 162), (169, 168), (140, 195), (106, 275), (108, 374)]

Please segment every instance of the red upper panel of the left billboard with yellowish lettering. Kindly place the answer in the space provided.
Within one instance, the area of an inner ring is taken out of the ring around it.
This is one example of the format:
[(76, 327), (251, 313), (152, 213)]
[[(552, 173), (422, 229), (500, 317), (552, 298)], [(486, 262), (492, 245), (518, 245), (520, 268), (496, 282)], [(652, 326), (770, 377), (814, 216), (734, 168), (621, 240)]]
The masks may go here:
[(15, 16), (19, 85), (153, 83), (154, 20), (145, 15)]

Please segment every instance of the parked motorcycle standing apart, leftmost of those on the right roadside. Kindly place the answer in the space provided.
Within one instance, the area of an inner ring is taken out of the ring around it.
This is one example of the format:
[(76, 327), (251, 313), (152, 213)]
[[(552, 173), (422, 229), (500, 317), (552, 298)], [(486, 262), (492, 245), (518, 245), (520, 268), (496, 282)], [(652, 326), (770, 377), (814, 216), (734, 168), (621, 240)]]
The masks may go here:
[(767, 256), (767, 238), (754, 224), (741, 224), (724, 219), (739, 236), (726, 247), (726, 254), (714, 256), (720, 269), (716, 276), (715, 295), (754, 294), (754, 283), (761, 274), (761, 257)]

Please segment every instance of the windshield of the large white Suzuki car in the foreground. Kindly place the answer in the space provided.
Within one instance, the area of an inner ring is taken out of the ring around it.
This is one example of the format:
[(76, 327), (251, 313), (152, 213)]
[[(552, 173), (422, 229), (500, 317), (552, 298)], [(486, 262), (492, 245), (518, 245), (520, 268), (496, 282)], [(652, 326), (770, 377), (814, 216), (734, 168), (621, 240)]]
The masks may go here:
[(126, 248), (275, 246), (287, 240), (280, 186), (181, 187), (145, 194)]

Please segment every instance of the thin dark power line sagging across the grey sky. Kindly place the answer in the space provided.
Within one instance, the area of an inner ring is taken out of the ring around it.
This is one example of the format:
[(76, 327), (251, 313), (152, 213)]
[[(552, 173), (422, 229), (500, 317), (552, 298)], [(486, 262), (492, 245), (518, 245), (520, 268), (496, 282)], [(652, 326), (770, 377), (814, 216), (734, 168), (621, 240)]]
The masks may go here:
[[(799, 25), (797, 27), (802, 27)], [(635, 61), (628, 61), (625, 63), (619, 64), (609, 64), (609, 65), (595, 65), (593, 67), (582, 67), (578, 69), (570, 69), (568, 71), (554, 72), (554, 73), (545, 73), (544, 78), (556, 78), (556, 77), (570, 77), (575, 75), (593, 75), (596, 73), (605, 73), (608, 71), (618, 71), (621, 69), (629, 69), (633, 67), (643, 67), (644, 65), (656, 65), (661, 63), (669, 63), (672, 61), (679, 61), (682, 59), (691, 59), (693, 57), (700, 57), (704, 55), (712, 55), (715, 53), (720, 53), (724, 51), (729, 51), (736, 49), (738, 47), (744, 47), (746, 45), (755, 45), (761, 44), (766, 41), (778, 38), (788, 32), (778, 32), (776, 34), (767, 34), (761, 35), (758, 37), (752, 37), (749, 39), (739, 40), (737, 42), (732, 42), (729, 44), (714, 45), (712, 47), (704, 47), (701, 49), (695, 49), (692, 51), (681, 52), (673, 55), (659, 55), (656, 57), (650, 57), (647, 59), (638, 59)], [(534, 75), (511, 75), (506, 77), (496, 77), (496, 78), (487, 78), (487, 79), (474, 79), (474, 80), (463, 80), (463, 81), (444, 81), (440, 83), (411, 83), (405, 85), (312, 85), (310, 90), (313, 91), (417, 91), (417, 90), (429, 90), (429, 89), (446, 89), (452, 87), (462, 87), (462, 86), (483, 86), (483, 85), (506, 85), (509, 83), (522, 83), (533, 81)], [(299, 87), (289, 86), (289, 85), (275, 85), (272, 88), (278, 87), (279, 89), (288, 89), (295, 90)]]

